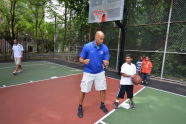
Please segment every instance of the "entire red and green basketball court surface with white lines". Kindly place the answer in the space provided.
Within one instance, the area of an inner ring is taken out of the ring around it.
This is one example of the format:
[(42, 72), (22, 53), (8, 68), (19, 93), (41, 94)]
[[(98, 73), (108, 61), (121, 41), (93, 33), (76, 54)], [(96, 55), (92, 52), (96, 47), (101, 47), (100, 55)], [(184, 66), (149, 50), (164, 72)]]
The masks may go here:
[[(184, 123), (186, 97), (144, 86), (135, 86), (134, 110), (113, 109), (119, 80), (107, 77), (105, 115), (99, 109), (99, 92), (87, 94), (84, 118), (76, 115), (82, 70), (47, 61), (24, 62), (24, 72), (11, 74), (14, 63), (1, 63), (1, 124), (118, 124)], [(131, 119), (132, 118), (132, 119)]]

